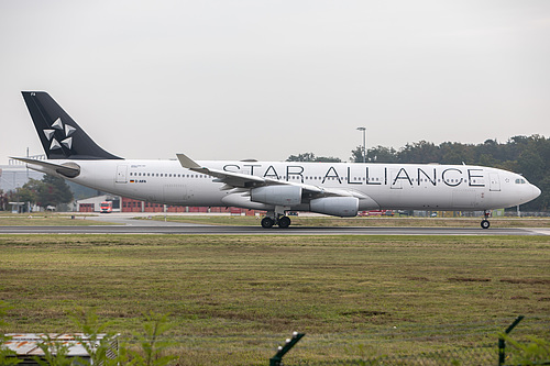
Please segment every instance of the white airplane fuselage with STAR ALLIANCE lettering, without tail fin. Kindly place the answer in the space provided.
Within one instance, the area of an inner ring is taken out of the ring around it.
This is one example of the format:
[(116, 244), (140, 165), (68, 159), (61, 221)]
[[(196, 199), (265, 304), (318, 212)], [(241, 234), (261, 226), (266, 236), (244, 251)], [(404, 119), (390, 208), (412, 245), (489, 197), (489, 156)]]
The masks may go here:
[[(150, 202), (243, 207), (271, 210), (252, 202), (242, 190), (224, 189), (208, 175), (183, 168), (178, 160), (55, 160), (75, 163), (77, 184)], [(202, 166), (321, 189), (342, 190), (360, 197), (359, 210), (491, 210), (517, 206), (540, 190), (520, 175), (470, 165), (198, 162)], [(48, 169), (30, 167), (52, 174)], [(65, 177), (66, 178), (66, 177)], [(302, 202), (293, 210), (307, 211)]]

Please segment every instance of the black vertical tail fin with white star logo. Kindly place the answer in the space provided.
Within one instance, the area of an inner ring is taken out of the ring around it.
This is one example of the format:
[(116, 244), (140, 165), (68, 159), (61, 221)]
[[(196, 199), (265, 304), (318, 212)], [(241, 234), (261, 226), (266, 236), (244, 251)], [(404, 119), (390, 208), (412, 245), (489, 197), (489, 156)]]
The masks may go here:
[(44, 91), (22, 91), (48, 159), (121, 159), (96, 144)]

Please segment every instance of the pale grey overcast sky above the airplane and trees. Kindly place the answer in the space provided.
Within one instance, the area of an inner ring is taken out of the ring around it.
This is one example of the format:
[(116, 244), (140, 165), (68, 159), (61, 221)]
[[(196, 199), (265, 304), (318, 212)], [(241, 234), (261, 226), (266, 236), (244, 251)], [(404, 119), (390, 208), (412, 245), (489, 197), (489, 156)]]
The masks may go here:
[(550, 136), (550, 1), (0, 0), (0, 164), (44, 90), (127, 158)]

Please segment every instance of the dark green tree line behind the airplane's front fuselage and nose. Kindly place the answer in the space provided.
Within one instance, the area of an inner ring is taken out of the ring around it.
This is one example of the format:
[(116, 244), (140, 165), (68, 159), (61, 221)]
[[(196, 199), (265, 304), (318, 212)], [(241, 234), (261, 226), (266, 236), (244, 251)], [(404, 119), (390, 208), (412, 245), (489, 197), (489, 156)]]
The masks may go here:
[[(352, 152), (351, 162), (363, 163), (363, 146)], [(318, 157), (312, 153), (290, 155), (287, 162), (341, 162), (334, 157)], [(495, 167), (521, 174), (542, 190), (536, 200), (524, 204), (524, 211), (550, 210), (550, 138), (541, 135), (514, 136), (506, 143), (486, 140), (482, 144), (427, 141), (407, 144), (399, 149), (375, 146), (366, 149), (366, 163), (393, 164), (468, 164)]]

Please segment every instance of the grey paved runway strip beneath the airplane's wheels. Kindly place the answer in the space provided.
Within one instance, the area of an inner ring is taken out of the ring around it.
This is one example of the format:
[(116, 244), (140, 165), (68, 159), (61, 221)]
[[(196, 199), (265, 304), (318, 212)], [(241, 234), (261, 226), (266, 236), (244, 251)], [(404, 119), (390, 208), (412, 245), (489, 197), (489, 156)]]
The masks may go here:
[(491, 228), (304, 228), (217, 226), (196, 224), (0, 226), (0, 234), (178, 234), (178, 235), (550, 235), (550, 229)]

